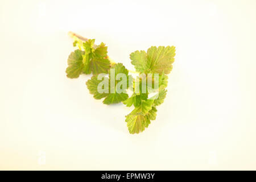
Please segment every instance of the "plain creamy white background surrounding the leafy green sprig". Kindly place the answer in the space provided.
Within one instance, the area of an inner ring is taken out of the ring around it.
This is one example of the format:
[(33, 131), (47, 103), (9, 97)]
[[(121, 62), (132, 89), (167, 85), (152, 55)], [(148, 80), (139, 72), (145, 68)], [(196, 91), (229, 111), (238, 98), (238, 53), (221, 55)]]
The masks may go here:
[[(256, 1), (1, 1), (0, 169), (256, 169)], [(68, 31), (115, 62), (175, 46), (155, 121), (65, 76)]]

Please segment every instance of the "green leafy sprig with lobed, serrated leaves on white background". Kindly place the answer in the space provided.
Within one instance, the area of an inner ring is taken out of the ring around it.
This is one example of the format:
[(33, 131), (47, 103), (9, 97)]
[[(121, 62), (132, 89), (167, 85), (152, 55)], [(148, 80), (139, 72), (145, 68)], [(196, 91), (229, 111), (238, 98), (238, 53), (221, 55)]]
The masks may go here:
[[(126, 123), (128, 130), (131, 134), (142, 132), (145, 127), (148, 127), (152, 120), (156, 119), (156, 106), (163, 103), (167, 93), (168, 74), (172, 70), (172, 63), (174, 63), (175, 47), (174, 46), (152, 46), (146, 51), (135, 51), (130, 54), (131, 64), (137, 73), (144, 73), (146, 79), (152, 79), (148, 77), (149, 73), (158, 73), (158, 85), (159, 89), (155, 96), (149, 97), (149, 94), (154, 92), (154, 88), (146, 86), (146, 93), (142, 92), (143, 82), (140, 78), (133, 78), (131, 90), (133, 94), (129, 97), (126, 92), (122, 93), (99, 93), (97, 88), (98, 84), (102, 82), (97, 79), (100, 73), (106, 73), (108, 76), (104, 77), (104, 81), (110, 82), (110, 68), (113, 68), (115, 75), (123, 73), (127, 77), (127, 85), (129, 85), (129, 71), (122, 63), (114, 63), (110, 61), (108, 56), (108, 47), (104, 43), (95, 45), (94, 39), (86, 39), (80, 35), (69, 32), (69, 35), (74, 39), (73, 46), (77, 47), (74, 52), (71, 52), (68, 56), (68, 68), (66, 69), (68, 78), (77, 78), (81, 74), (89, 75), (92, 73), (92, 77), (86, 82), (87, 88), (90, 94), (96, 100), (104, 98), (103, 103), (117, 104), (122, 102), (127, 107), (134, 105), (134, 110), (130, 114), (126, 115)], [(108, 90), (115, 89), (118, 85), (118, 80), (115, 80), (114, 85), (106, 88)], [(152, 79), (154, 82), (154, 78)], [(134, 85), (139, 85), (139, 92), (135, 92)], [(111, 84), (108, 84), (111, 85)], [(113, 88), (112, 88), (113, 87)]]

